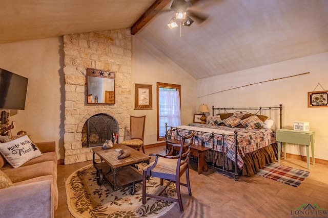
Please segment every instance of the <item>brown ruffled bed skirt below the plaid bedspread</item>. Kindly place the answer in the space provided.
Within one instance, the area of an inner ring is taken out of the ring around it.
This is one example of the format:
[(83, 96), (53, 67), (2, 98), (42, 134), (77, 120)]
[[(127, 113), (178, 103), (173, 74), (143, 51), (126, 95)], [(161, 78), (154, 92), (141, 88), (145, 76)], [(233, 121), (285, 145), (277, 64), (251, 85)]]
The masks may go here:
[[(239, 169), (238, 174), (243, 176), (253, 176), (264, 168), (265, 164), (273, 163), (278, 159), (278, 149), (277, 143), (270, 144), (270, 146), (261, 148), (257, 151), (245, 154), (242, 157), (244, 165), (242, 169)], [(205, 160), (207, 162), (212, 162), (213, 154), (212, 151), (205, 151)], [(222, 152), (214, 152), (214, 163), (220, 168), (224, 168), (226, 171), (235, 171), (234, 162), (227, 157), (226, 154)]]

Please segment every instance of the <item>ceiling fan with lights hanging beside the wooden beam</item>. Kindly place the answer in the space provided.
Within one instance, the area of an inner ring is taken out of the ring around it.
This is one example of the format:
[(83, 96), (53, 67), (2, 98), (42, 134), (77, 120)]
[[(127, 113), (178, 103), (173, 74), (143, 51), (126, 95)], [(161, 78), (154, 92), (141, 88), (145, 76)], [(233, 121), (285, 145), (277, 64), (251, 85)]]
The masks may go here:
[(199, 1), (201, 0), (172, 0), (170, 9), (176, 13), (176, 17), (173, 17), (170, 20), (168, 26), (171, 29), (178, 27), (176, 20), (181, 20), (182, 25), (188, 27), (194, 22), (193, 19), (195, 19), (195, 21), (198, 23), (205, 21), (208, 18), (208, 15), (188, 9)]

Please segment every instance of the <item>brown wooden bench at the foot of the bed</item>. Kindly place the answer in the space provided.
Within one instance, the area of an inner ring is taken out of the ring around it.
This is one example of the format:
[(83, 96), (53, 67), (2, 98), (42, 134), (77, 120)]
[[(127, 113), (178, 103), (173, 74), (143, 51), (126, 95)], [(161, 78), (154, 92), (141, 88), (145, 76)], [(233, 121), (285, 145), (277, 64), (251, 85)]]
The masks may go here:
[[(166, 139), (167, 142), (167, 149), (171, 149), (172, 144), (181, 144), (180, 140), (176, 139)], [(174, 150), (179, 151), (179, 147), (173, 147)], [(202, 170), (204, 172), (208, 172), (209, 168), (207, 166), (207, 163), (205, 161), (204, 151), (211, 150), (211, 148), (207, 148), (204, 146), (199, 146), (197, 144), (192, 144), (190, 149), (190, 155), (193, 155), (195, 157), (198, 157), (198, 164), (197, 164), (197, 172), (198, 174), (202, 173)]]

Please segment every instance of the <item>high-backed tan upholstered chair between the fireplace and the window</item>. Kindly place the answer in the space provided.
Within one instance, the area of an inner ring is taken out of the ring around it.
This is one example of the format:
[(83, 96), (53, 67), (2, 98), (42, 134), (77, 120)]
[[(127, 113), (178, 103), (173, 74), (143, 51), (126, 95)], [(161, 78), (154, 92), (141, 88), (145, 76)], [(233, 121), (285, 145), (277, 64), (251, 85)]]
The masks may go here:
[(144, 133), (145, 133), (145, 116), (130, 116), (130, 140), (125, 140), (120, 142), (120, 144), (125, 144), (133, 149), (137, 149), (145, 153), (144, 149)]

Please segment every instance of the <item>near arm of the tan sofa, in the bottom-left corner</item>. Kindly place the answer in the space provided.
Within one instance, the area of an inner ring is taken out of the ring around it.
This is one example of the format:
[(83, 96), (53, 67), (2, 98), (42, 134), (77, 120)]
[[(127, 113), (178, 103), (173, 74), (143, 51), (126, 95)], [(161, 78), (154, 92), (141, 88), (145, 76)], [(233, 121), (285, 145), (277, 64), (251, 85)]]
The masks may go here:
[(51, 180), (0, 189), (0, 217), (54, 217)]

